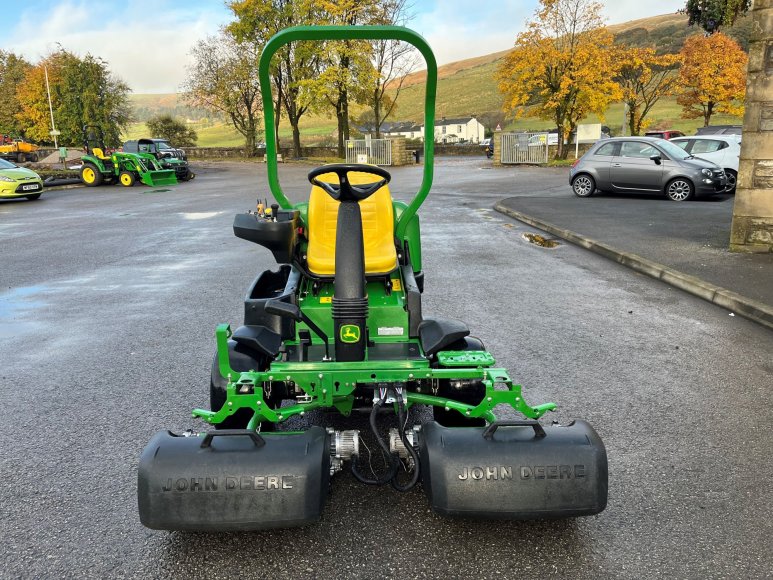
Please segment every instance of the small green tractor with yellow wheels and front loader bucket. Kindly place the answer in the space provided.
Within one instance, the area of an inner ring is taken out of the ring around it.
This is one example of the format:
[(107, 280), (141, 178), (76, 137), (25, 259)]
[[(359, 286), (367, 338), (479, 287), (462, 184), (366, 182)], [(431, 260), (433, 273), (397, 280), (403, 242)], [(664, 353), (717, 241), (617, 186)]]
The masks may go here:
[(87, 187), (119, 182), (126, 187), (137, 181), (151, 187), (177, 183), (173, 169), (162, 169), (153, 155), (147, 153), (105, 154), (105, 135), (98, 125), (83, 126), (81, 181)]

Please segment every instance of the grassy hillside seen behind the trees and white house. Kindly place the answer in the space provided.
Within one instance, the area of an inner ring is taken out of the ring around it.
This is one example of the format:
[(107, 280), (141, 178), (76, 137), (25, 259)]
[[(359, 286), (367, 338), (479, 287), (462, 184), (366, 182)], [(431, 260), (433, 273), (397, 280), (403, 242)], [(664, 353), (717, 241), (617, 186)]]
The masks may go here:
[[(687, 26), (687, 17), (681, 14), (664, 14), (651, 18), (632, 20), (609, 27), (615, 35), (615, 41), (631, 46), (651, 46), (659, 52), (678, 52), (684, 40), (699, 31)], [(733, 28), (725, 32), (736, 38), (744, 48), (748, 48), (748, 38), (751, 30), (751, 18), (742, 18)], [(501, 63), (507, 51), (496, 52), (443, 65), (438, 68), (438, 92), (436, 116), (460, 117), (474, 115), (481, 119), (487, 128), (501, 124), (505, 130), (546, 129), (551, 124), (535, 118), (525, 118), (517, 121), (506, 119), (502, 113), (502, 96), (494, 81), (494, 72)], [(420, 122), (424, 112), (424, 82), (426, 71), (409, 75), (400, 93), (398, 106), (390, 121)], [(169, 113), (176, 117), (195, 121), (192, 127), (199, 134), (201, 146), (238, 146), (243, 144), (243, 138), (234, 129), (206, 111), (192, 109), (179, 100), (178, 95), (132, 95), (132, 103), (136, 116), (141, 123), (136, 123), (127, 132), (128, 137), (146, 135), (144, 121), (161, 113)], [(362, 107), (353, 107), (352, 117), (356, 118)], [(676, 100), (663, 99), (649, 115), (651, 128), (677, 128), (691, 134), (702, 124), (698, 119), (681, 118), (681, 108)], [(587, 122), (597, 122), (590, 117)], [(738, 117), (715, 115), (712, 123), (741, 123)], [(619, 134), (623, 123), (622, 104), (614, 104), (607, 111), (603, 122)], [(335, 141), (335, 119), (326, 115), (304, 116), (301, 122), (302, 138), (305, 143), (328, 143)], [(280, 138), (291, 139), (290, 127), (287, 122), (280, 125)]]

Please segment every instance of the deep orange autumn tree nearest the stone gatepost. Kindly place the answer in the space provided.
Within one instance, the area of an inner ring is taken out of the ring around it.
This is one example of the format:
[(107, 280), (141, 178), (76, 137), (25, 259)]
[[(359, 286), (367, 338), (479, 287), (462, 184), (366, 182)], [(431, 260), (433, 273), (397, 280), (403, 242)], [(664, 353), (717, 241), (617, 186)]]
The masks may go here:
[(704, 126), (714, 113), (743, 115), (748, 57), (732, 38), (722, 33), (689, 37), (682, 48), (679, 71), (682, 117), (703, 117)]

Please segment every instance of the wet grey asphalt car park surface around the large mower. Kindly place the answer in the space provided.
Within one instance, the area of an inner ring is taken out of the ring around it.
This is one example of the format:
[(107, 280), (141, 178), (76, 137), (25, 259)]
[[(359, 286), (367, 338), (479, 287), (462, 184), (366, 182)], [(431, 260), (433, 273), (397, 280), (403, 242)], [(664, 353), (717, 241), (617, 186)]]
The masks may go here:
[[(280, 167), (295, 201), (308, 195), (308, 169)], [(559, 404), (548, 419), (596, 427), (610, 459), (606, 511), (446, 519), (420, 489), (341, 473), (314, 526), (143, 528), (139, 453), (161, 429), (203, 429), (190, 409), (207, 406), (214, 328), (240, 322), (247, 286), (273, 266), (231, 229), (267, 195), (265, 167), (196, 172), (177, 186), (0, 204), (1, 575), (770, 575), (770, 332), (579, 248), (530, 244), (533, 228), (491, 208), (513, 195), (574, 199), (567, 170), (482, 158), (437, 163), (421, 211), (425, 310), (465, 320), (530, 401)], [(395, 169), (394, 195), (420, 179), (419, 167)]]

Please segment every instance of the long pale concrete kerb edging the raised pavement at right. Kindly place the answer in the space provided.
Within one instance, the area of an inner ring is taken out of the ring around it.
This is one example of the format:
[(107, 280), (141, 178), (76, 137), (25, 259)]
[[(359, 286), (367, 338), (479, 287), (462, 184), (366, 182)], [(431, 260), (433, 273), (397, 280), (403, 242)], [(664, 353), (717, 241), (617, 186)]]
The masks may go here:
[(494, 209), (506, 216), (549, 232), (554, 236), (558, 236), (577, 246), (595, 252), (610, 260), (614, 260), (632, 270), (646, 274), (651, 278), (661, 280), (675, 288), (689, 292), (690, 294), (703, 298), (721, 308), (735, 312), (744, 318), (748, 318), (767, 328), (773, 329), (773, 307), (768, 306), (767, 304), (752, 300), (751, 298), (747, 298), (746, 296), (742, 296), (736, 292), (722, 288), (721, 286), (716, 286), (705, 280), (696, 278), (695, 276), (690, 276), (684, 272), (658, 264), (657, 262), (653, 262), (652, 260), (648, 260), (637, 254), (616, 250), (607, 244), (597, 242), (596, 240), (587, 238), (575, 232), (559, 228), (548, 222), (515, 211), (501, 203), (497, 203), (494, 206)]

